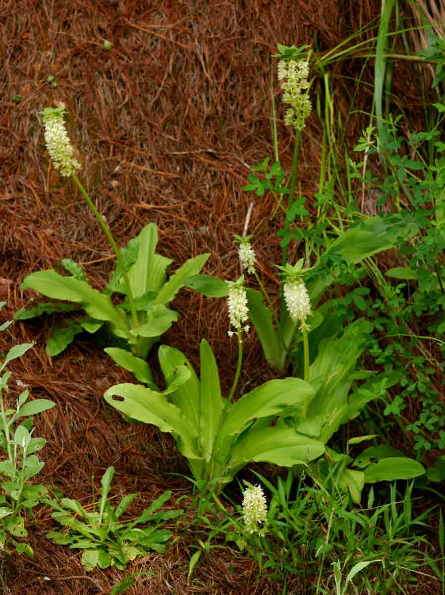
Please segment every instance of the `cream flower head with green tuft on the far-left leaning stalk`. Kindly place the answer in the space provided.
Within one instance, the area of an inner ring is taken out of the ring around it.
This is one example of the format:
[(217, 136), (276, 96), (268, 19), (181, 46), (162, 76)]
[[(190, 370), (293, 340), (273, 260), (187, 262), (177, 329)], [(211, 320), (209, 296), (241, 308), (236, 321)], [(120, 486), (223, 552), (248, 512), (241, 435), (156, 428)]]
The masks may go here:
[(64, 124), (64, 109), (45, 109), (42, 112), (45, 126), (45, 143), (54, 167), (62, 176), (70, 176), (80, 168), (79, 161), (73, 157), (73, 147)]

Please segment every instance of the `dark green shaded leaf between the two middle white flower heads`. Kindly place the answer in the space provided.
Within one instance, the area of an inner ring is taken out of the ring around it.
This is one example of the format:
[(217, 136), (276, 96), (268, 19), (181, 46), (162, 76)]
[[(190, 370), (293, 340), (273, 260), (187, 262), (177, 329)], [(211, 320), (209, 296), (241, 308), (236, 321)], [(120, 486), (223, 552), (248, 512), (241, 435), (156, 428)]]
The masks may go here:
[[(286, 361), (286, 351), (278, 339), (272, 323), (272, 315), (264, 305), (264, 297), (260, 292), (253, 289), (247, 289), (247, 303), (249, 304), (249, 318), (258, 334), (259, 342), (263, 348), (264, 357), (269, 365), (274, 368), (283, 368)], [(291, 321), (291, 324), (292, 321)], [(295, 325), (293, 324), (293, 330)]]

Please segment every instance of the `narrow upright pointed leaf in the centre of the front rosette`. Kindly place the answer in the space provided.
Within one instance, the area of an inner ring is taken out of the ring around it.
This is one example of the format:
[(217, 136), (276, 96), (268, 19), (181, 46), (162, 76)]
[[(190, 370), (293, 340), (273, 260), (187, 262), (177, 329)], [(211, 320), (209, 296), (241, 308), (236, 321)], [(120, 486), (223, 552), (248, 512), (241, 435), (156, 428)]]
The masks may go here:
[(221, 396), (217, 362), (211, 346), (203, 339), (200, 345), (199, 438), (206, 461), (210, 461), (212, 457), (223, 409), (224, 401)]

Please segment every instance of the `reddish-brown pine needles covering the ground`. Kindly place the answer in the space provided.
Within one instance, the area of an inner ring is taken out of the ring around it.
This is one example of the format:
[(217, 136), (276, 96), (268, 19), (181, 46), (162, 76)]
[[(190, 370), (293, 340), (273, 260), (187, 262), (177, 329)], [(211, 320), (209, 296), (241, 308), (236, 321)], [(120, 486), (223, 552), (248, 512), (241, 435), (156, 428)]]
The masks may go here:
[[(269, 55), (277, 42), (314, 45), (316, 40), (318, 50), (327, 51), (379, 14), (378, 0), (0, 0), (0, 299), (8, 306), (1, 312), (2, 321), (30, 303), (32, 292), (20, 292), (19, 285), (32, 271), (73, 258), (100, 289), (114, 264), (82, 196), (52, 169), (45, 152), (37, 114), (61, 103), (82, 164), (79, 177), (118, 245), (126, 245), (154, 221), (158, 252), (173, 258), (176, 267), (211, 252), (203, 272), (235, 280), (240, 268), (233, 234), (242, 234), (250, 202), (255, 201), (247, 233), (258, 233), (254, 246), (262, 281), (277, 299), (274, 263), (281, 252), (275, 232), (283, 216), (269, 223), (275, 208), (272, 197), (254, 199), (242, 192), (247, 165), (272, 155), (269, 88), (275, 66)], [(358, 40), (375, 35), (377, 24)], [(109, 49), (105, 40), (111, 43)], [(343, 121), (362, 65), (358, 59), (330, 67)], [(400, 91), (405, 109), (421, 106), (416, 86), (420, 71), (409, 65), (400, 68), (394, 72), (394, 96)], [(362, 78), (370, 86), (361, 87), (357, 109), (370, 111), (372, 62)], [(281, 120), (281, 104), (278, 117), (283, 165), (290, 170), (292, 142)], [(351, 146), (363, 123), (366, 118), (349, 118)], [(320, 142), (321, 125), (313, 114), (300, 150), (302, 192), (309, 197), (317, 189)], [(196, 365), (200, 339), (208, 339), (228, 394), (237, 350), (227, 336), (225, 300), (181, 290), (173, 307), (181, 318), (164, 336), (165, 343), (185, 352)], [(36, 419), (37, 436), (48, 441), (39, 481), (83, 502), (90, 498), (91, 475), (97, 483), (114, 465), (112, 494), (137, 491), (140, 498), (130, 508), (135, 515), (167, 488), (174, 499), (191, 494), (190, 483), (174, 475), (187, 475), (174, 440), (155, 427), (127, 424), (102, 398), (112, 384), (131, 381), (131, 374), (115, 366), (87, 336), (48, 358), (44, 345), (52, 320), (16, 323), (5, 335), (7, 345), (0, 346), (36, 341), (34, 349), (11, 365), (10, 384), (20, 381), (32, 397), (56, 403)], [(151, 363), (155, 366), (154, 355)], [(252, 331), (245, 341), (239, 392), (269, 380), (271, 373)], [(11, 390), (10, 396), (15, 393)], [(245, 476), (253, 477), (247, 470)], [(123, 578), (116, 569), (87, 575), (76, 550), (45, 538), (54, 528), (48, 511), (37, 512), (29, 527), (35, 558), (14, 555), (9, 567), (4, 566), (8, 594), (109, 593)], [(282, 585), (258, 580), (251, 559), (228, 549), (212, 550), (188, 579), (191, 543), (190, 536), (180, 535), (164, 555), (151, 553), (130, 564), (127, 573), (154, 575), (137, 578), (127, 592), (281, 593)], [(289, 594), (304, 589), (298, 581), (287, 585)]]

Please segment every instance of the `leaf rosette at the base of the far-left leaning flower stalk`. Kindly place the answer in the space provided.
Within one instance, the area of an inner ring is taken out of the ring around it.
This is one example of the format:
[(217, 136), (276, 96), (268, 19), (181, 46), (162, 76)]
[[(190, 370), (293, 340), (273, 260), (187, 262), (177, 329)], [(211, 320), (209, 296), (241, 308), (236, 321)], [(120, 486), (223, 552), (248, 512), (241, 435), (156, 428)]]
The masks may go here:
[(186, 284), (187, 278), (198, 275), (209, 258), (207, 253), (189, 259), (167, 280), (168, 267), (173, 261), (155, 252), (157, 242), (158, 228), (150, 223), (122, 250), (139, 321), (136, 328), (128, 300), (114, 305), (111, 299), (115, 293), (126, 297), (120, 267), (117, 265), (108, 286), (99, 292), (90, 286), (82, 267), (70, 260), (62, 261), (70, 276), (61, 275), (53, 269), (38, 271), (27, 275), (20, 287), (77, 305), (37, 303), (16, 312), (15, 320), (27, 320), (43, 313), (83, 311), (84, 314), (76, 315), (73, 320), (51, 328), (46, 346), (48, 355), (61, 353), (82, 331), (96, 333), (105, 327), (112, 336), (127, 342), (134, 355), (146, 359), (152, 346), (178, 320), (178, 312), (168, 308), (169, 303)]

